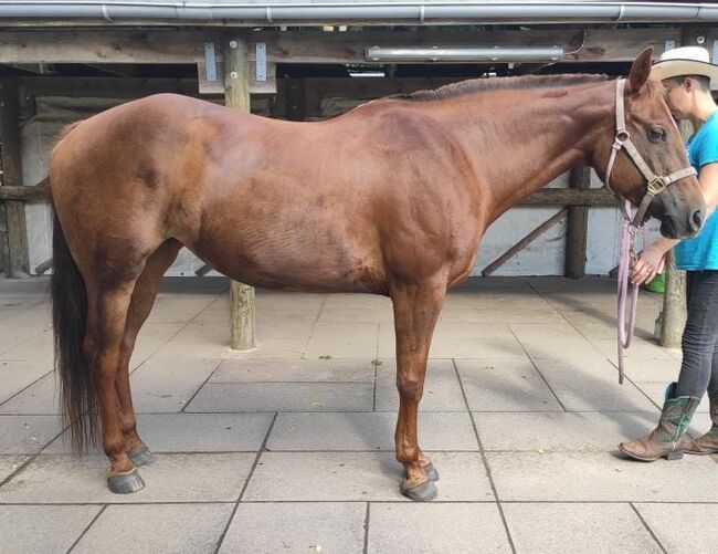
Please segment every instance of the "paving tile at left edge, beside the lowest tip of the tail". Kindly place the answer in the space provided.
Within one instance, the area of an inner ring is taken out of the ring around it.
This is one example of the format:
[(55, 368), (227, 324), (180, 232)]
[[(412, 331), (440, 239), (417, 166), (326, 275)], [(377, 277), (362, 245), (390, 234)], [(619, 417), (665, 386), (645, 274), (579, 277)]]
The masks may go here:
[(60, 431), (57, 416), (0, 416), (0, 453), (35, 453)]

